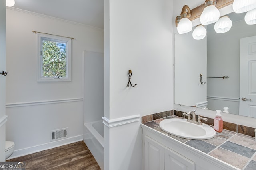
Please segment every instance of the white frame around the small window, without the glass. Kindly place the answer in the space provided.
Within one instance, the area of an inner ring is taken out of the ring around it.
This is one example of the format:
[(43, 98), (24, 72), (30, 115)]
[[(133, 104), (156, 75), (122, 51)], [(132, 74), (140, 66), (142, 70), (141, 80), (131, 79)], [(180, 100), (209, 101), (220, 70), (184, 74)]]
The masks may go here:
[[(61, 37), (58, 35), (48, 35), (44, 33), (37, 33), (37, 59), (38, 59), (38, 78), (37, 82), (71, 82), (71, 66), (72, 66), (72, 39), (68, 37)], [(44, 77), (43, 76), (43, 56), (42, 40), (56, 41), (66, 43), (66, 77)]]

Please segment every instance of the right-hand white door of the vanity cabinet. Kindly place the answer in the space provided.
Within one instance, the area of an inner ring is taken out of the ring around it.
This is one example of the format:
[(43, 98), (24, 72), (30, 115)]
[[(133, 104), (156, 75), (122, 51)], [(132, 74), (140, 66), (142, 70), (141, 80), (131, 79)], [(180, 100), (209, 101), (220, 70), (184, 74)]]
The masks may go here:
[(195, 170), (195, 163), (178, 154), (168, 147), (164, 147), (165, 170)]

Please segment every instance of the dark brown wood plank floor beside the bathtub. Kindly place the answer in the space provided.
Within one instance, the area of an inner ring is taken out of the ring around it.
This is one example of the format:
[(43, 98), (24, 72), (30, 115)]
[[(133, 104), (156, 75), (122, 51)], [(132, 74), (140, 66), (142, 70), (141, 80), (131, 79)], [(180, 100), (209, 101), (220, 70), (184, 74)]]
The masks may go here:
[(84, 141), (7, 161), (25, 162), (26, 170), (100, 170)]

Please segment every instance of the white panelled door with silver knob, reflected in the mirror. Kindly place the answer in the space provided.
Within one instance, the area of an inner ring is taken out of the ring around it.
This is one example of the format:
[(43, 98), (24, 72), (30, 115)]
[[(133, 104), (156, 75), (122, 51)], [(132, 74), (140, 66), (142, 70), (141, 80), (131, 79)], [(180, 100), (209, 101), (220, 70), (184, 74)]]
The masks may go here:
[(239, 115), (256, 118), (256, 36), (240, 39)]

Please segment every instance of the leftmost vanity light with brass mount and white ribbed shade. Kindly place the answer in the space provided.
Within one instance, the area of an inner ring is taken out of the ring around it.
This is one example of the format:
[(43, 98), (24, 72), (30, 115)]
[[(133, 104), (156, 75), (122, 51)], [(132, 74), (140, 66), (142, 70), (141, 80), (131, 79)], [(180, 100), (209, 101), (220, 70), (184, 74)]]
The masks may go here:
[(187, 5), (184, 5), (180, 16), (177, 16), (175, 23), (179, 34), (188, 33), (192, 30), (193, 24), (188, 19), (191, 16), (190, 8)]

